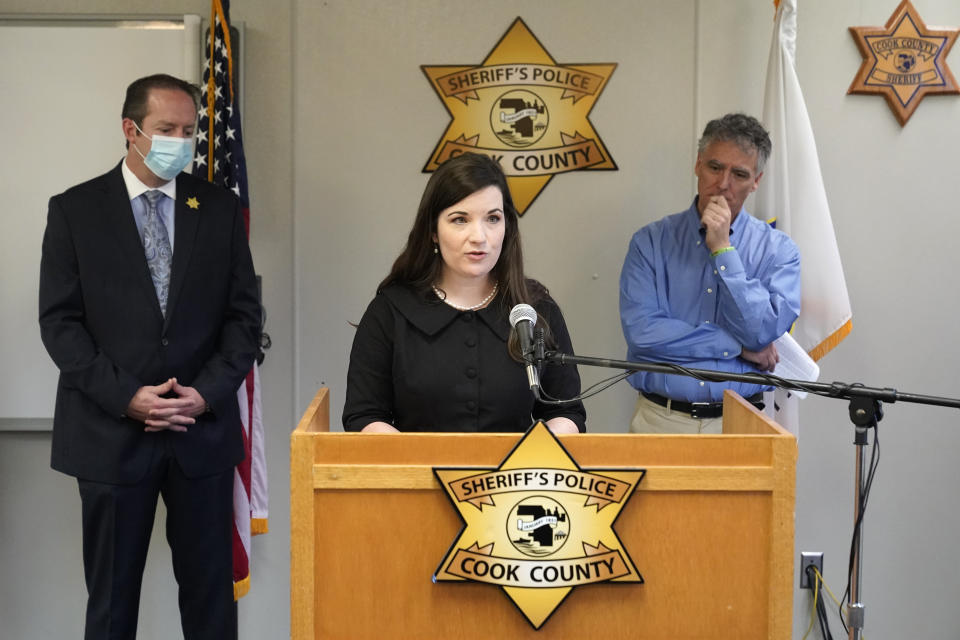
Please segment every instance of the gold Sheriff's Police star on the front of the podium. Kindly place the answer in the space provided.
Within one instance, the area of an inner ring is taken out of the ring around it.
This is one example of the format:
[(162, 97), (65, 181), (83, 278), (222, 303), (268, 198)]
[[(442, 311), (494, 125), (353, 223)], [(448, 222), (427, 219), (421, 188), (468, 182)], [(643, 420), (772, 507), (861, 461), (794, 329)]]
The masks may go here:
[(583, 470), (537, 423), (491, 468), (435, 468), (464, 527), (435, 582), (497, 585), (539, 629), (574, 587), (642, 583), (613, 529), (642, 469)]

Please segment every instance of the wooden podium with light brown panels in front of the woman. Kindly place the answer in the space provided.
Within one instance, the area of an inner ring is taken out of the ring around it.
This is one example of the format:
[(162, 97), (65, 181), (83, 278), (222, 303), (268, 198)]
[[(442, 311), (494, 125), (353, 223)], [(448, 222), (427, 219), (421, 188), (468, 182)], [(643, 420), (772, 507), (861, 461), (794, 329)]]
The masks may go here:
[(559, 437), (646, 469), (614, 525), (645, 583), (577, 587), (536, 631), (498, 587), (431, 581), (461, 528), (432, 467), (497, 466), (520, 435), (330, 433), (320, 389), (290, 442), (291, 637), (789, 638), (796, 440), (731, 392), (723, 428)]

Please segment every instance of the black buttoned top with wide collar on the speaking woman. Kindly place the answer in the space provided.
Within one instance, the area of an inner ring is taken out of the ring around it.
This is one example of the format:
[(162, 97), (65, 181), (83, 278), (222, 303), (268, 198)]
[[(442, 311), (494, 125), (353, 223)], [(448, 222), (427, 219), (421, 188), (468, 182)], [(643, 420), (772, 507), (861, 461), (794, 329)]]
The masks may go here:
[[(534, 400), (524, 367), (507, 351), (510, 310), (503, 304), (498, 296), (479, 311), (457, 311), (432, 293), (384, 289), (353, 339), (344, 429), (380, 421), (400, 431), (522, 432), (562, 416), (585, 431), (582, 403)], [(557, 348), (572, 353), (557, 303), (547, 297), (534, 307)], [(580, 375), (576, 365), (547, 365), (540, 385), (554, 398), (571, 398), (580, 393)]]

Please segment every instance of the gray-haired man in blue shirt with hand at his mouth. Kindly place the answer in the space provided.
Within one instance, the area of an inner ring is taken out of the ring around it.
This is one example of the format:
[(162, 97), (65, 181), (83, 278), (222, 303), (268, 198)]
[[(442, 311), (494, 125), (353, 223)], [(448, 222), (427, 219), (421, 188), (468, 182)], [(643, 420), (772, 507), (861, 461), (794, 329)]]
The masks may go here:
[[(620, 319), (630, 360), (731, 373), (773, 371), (773, 342), (800, 313), (800, 254), (751, 216), (770, 137), (744, 114), (709, 122), (686, 211), (637, 231), (620, 274)], [(719, 433), (723, 390), (758, 404), (767, 387), (639, 372), (636, 433)]]

